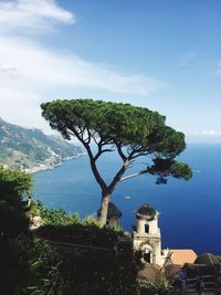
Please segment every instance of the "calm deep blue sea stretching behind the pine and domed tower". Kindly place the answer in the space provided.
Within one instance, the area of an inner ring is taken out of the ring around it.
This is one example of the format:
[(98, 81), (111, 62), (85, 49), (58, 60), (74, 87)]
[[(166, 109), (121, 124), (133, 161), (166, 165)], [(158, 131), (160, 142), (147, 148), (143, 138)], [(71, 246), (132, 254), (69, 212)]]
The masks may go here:
[[(157, 186), (154, 177), (144, 175), (116, 189), (113, 201), (123, 212), (122, 225), (131, 231), (135, 211), (147, 202), (160, 212), (164, 247), (221, 255), (221, 145), (191, 144), (180, 158), (194, 172), (188, 182), (170, 178), (166, 186)], [(115, 154), (101, 160), (106, 180), (110, 180), (118, 165)], [(63, 208), (84, 217), (96, 212), (99, 196), (87, 156), (34, 175), (34, 198), (50, 208)]]

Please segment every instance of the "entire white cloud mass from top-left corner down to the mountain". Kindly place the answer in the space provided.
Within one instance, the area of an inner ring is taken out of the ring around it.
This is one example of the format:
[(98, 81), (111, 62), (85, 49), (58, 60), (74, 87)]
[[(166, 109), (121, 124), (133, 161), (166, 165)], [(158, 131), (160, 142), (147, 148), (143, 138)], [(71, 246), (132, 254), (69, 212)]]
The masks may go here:
[(55, 24), (74, 22), (74, 13), (54, 0), (0, 0), (0, 117), (45, 130), (41, 102), (107, 96), (117, 101), (116, 95), (146, 97), (168, 86), (33, 41), (33, 32), (43, 29), (46, 33)]

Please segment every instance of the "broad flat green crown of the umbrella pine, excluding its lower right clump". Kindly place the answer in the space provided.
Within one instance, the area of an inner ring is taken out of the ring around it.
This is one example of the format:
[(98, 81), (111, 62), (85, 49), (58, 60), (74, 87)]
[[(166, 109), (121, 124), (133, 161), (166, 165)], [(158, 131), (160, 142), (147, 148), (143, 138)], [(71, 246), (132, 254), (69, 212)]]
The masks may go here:
[(52, 128), (70, 139), (88, 128), (103, 141), (129, 146), (135, 151), (157, 151), (175, 157), (185, 148), (185, 136), (166, 126), (165, 117), (148, 108), (93, 99), (54, 101), (41, 105)]

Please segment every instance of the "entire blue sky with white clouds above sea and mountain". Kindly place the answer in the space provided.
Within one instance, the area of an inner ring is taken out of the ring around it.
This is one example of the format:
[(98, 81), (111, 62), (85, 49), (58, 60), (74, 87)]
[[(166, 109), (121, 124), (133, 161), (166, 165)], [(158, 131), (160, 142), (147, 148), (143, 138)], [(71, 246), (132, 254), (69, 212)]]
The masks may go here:
[(93, 97), (221, 141), (220, 12), (219, 0), (0, 0), (0, 116), (49, 131), (41, 102)]

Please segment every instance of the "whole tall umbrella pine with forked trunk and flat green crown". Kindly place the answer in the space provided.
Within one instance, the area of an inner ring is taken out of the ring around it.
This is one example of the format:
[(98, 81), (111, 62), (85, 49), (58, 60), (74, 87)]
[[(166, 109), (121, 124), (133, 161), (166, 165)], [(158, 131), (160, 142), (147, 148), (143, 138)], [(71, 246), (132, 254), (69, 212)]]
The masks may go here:
[[(41, 105), (43, 117), (53, 129), (66, 139), (75, 136), (85, 147), (92, 171), (102, 188), (102, 219), (105, 223), (106, 204), (116, 186), (126, 179), (141, 175), (157, 175), (157, 182), (165, 183), (172, 176), (188, 180), (191, 169), (175, 158), (185, 150), (185, 135), (166, 125), (166, 117), (158, 112), (129, 104), (93, 99), (53, 101)], [(95, 143), (97, 150), (92, 151)], [(110, 183), (102, 178), (97, 159), (116, 150), (123, 165)], [(136, 158), (150, 156), (152, 161), (137, 173), (124, 177)]]

